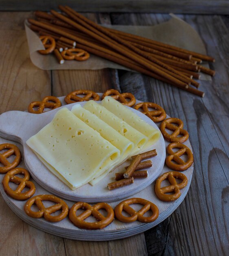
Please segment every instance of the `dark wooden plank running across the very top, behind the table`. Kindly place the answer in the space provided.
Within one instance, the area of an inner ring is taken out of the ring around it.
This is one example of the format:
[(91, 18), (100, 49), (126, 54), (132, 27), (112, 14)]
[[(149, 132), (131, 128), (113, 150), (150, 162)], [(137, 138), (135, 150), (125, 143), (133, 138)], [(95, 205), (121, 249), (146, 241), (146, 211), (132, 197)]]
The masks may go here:
[[(31, 2), (30, 0), (1, 0), (2, 11), (49, 11), (57, 9), (63, 1)], [(201, 13), (201, 14), (228, 14), (227, 0), (66, 0), (69, 5), (81, 12), (152, 12), (152, 13)]]

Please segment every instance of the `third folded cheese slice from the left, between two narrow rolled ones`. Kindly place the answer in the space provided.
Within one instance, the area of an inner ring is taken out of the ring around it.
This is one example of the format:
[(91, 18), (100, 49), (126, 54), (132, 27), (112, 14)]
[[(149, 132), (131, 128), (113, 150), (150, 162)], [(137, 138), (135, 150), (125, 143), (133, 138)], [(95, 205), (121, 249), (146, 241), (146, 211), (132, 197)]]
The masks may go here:
[(84, 104), (84, 108), (89, 110), (92, 114), (97, 115), (99, 119), (103, 120), (109, 126), (114, 128), (119, 134), (123, 135), (134, 143), (134, 150), (132, 154), (137, 154), (142, 151), (142, 148), (148, 142), (148, 138), (125, 121), (114, 115), (112, 112), (96, 103), (95, 101), (88, 101)]

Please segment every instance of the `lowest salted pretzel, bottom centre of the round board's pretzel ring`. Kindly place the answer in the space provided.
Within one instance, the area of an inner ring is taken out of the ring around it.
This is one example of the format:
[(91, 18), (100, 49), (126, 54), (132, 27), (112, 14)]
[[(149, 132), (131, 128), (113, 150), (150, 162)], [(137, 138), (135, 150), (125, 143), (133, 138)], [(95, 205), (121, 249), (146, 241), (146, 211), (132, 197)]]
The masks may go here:
[[(83, 213), (77, 216), (77, 210), (86, 209)], [(107, 216), (104, 217), (99, 209), (104, 209), (107, 212)], [(84, 221), (89, 216), (94, 216), (98, 221), (97, 222), (86, 222)], [(68, 215), (71, 222), (76, 227), (81, 229), (103, 229), (108, 226), (114, 220), (114, 210), (109, 204), (98, 203), (93, 206), (84, 202), (77, 202), (73, 204), (72, 208), (69, 211)]]

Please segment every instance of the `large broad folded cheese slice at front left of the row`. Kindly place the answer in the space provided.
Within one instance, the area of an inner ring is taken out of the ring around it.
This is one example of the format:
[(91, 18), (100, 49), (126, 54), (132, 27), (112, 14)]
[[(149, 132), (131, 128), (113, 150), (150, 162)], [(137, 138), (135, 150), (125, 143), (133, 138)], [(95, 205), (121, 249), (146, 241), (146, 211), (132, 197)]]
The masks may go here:
[(26, 141), (47, 168), (71, 189), (100, 175), (117, 162), (120, 151), (67, 108)]

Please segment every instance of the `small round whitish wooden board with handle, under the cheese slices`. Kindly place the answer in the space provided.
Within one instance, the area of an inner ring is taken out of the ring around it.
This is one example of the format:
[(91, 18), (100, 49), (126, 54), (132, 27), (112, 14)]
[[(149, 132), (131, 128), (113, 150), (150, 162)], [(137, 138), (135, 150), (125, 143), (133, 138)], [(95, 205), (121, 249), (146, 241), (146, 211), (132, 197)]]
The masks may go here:
[[(75, 104), (83, 106), (85, 102), (68, 104), (64, 102), (64, 97), (59, 98), (62, 101), (62, 107), (69, 110)], [(152, 157), (153, 166), (148, 169), (148, 177), (144, 180), (135, 179), (133, 186), (123, 186), (119, 189), (109, 191), (107, 184), (114, 181), (114, 173), (121, 172), (124, 166), (129, 162), (124, 162), (117, 168), (114, 168), (106, 177), (100, 182), (91, 186), (86, 184), (76, 190), (71, 190), (66, 184), (59, 180), (53, 173), (51, 173), (46, 166), (37, 158), (35, 153), (27, 146), (26, 141), (31, 136), (39, 132), (46, 124), (50, 123), (55, 113), (60, 108), (42, 113), (31, 114), (22, 111), (9, 111), (0, 115), (0, 136), (6, 139), (17, 141), (23, 145), (24, 162), (26, 168), (30, 171), (33, 179), (44, 189), (53, 193), (61, 198), (71, 201), (84, 201), (84, 202), (111, 202), (121, 200), (128, 196), (134, 195), (149, 186), (162, 171), (165, 163), (165, 142), (163, 136), (150, 148), (156, 148), (157, 155)], [(138, 110), (134, 111), (139, 117), (145, 120), (148, 124), (158, 129), (158, 126), (147, 116), (143, 115)], [(64, 150), (64, 149), (63, 149)]]

